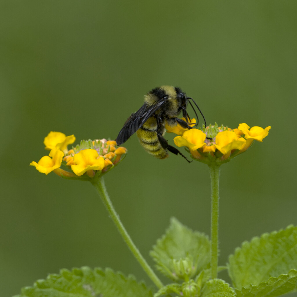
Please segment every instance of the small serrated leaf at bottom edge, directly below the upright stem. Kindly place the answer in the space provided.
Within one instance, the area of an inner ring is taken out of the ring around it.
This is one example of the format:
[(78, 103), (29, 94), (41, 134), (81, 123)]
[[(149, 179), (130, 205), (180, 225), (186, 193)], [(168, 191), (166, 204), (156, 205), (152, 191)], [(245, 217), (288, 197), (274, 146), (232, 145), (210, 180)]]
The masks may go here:
[(222, 279), (211, 279), (203, 286), (201, 297), (234, 297), (233, 288)]

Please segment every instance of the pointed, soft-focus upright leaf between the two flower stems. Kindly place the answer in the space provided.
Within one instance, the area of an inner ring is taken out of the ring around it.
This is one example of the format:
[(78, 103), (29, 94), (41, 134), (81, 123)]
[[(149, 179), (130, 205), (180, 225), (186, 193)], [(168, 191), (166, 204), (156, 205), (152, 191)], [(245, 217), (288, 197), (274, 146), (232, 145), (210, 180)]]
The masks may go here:
[(184, 280), (209, 267), (210, 241), (208, 236), (172, 218), (166, 234), (157, 240), (150, 255), (165, 276), (174, 281)]

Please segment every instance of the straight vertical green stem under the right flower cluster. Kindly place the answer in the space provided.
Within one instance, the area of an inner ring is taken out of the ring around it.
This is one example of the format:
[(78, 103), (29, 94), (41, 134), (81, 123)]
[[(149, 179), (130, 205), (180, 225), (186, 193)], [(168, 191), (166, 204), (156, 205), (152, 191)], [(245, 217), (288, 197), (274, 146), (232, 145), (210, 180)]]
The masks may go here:
[(211, 277), (217, 278), (218, 274), (218, 249), (219, 249), (219, 172), (220, 166), (208, 165), (211, 179)]

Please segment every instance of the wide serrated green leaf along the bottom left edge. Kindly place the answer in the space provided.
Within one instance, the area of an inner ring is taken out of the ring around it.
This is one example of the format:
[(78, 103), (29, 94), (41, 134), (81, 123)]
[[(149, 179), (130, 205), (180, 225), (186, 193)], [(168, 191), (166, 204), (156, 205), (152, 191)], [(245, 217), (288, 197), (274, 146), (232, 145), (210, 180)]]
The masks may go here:
[(15, 297), (152, 297), (144, 283), (131, 275), (107, 268), (92, 270), (89, 267), (62, 269), (60, 274), (50, 274), (38, 280), (33, 287), (24, 287)]

